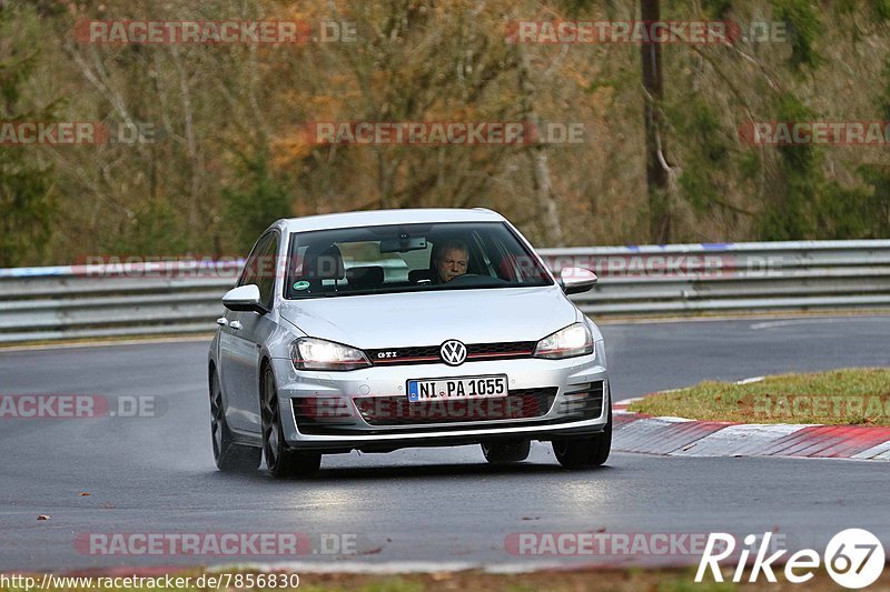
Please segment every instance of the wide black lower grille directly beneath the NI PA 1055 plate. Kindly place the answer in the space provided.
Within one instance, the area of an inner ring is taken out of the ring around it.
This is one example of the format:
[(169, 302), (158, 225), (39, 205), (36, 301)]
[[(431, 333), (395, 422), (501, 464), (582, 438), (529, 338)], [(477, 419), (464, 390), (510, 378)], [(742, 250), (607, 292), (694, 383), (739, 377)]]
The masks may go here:
[(356, 408), (369, 425), (425, 425), (469, 421), (541, 418), (556, 398), (556, 388), (517, 389), (507, 397), (408, 402), (399, 397), (362, 397)]

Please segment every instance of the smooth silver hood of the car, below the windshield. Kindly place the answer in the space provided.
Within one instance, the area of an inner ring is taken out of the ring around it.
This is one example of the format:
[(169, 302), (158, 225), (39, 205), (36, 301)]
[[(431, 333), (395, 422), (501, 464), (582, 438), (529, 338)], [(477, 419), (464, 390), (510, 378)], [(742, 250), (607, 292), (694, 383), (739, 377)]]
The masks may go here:
[(280, 314), (307, 335), (360, 349), (536, 341), (580, 318), (556, 285), (289, 300)]

